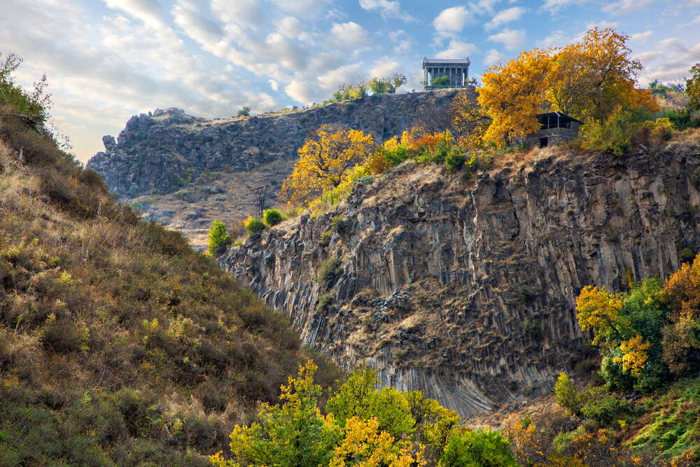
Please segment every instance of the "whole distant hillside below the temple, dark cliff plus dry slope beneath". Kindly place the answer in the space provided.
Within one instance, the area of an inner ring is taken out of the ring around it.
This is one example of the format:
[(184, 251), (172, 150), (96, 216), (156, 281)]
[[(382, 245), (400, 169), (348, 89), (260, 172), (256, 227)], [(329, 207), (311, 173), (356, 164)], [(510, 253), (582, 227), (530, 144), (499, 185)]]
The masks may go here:
[(447, 113), (456, 90), (410, 92), (253, 117), (206, 120), (182, 109), (133, 116), (118, 138), (103, 137), (105, 151), (87, 167), (102, 174), (113, 193), (137, 202), (146, 218), (181, 230), (206, 248), (207, 229), (218, 218), (233, 225), (253, 214), (251, 188), (270, 185), (276, 202), (292, 172), (297, 149), (321, 125), (369, 132), (385, 141), (424, 114)]

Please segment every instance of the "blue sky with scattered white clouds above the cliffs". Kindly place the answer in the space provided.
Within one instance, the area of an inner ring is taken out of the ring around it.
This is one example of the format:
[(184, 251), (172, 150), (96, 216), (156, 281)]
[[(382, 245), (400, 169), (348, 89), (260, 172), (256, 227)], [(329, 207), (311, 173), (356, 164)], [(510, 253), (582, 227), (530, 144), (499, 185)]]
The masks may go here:
[(470, 77), (522, 50), (614, 27), (645, 69), (677, 83), (700, 62), (700, 0), (0, 0), (0, 52), (48, 75), (52, 123), (85, 162), (138, 113), (229, 118), (330, 98), (342, 83), (469, 57)]

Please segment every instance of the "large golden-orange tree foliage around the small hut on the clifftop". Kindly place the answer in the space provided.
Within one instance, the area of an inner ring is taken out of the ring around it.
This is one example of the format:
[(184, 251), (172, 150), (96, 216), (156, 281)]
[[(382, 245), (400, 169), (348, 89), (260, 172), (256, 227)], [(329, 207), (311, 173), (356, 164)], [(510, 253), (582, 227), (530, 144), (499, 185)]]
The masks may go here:
[(477, 89), (480, 108), (463, 102), (455, 126), (470, 125), (465, 143), (501, 146), (538, 130), (533, 116), (543, 111), (601, 124), (619, 109), (659, 111), (650, 91), (634, 88), (642, 65), (631, 57), (628, 40), (614, 29), (595, 27), (578, 43), (534, 48), (491, 67)]

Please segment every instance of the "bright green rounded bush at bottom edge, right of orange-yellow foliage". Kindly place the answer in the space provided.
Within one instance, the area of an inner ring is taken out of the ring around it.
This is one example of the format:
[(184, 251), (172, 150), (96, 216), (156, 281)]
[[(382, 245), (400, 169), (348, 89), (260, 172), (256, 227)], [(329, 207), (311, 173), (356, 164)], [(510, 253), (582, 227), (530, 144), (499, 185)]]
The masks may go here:
[(444, 467), (515, 467), (518, 464), (509, 445), (498, 431), (465, 430), (449, 439), (440, 463)]

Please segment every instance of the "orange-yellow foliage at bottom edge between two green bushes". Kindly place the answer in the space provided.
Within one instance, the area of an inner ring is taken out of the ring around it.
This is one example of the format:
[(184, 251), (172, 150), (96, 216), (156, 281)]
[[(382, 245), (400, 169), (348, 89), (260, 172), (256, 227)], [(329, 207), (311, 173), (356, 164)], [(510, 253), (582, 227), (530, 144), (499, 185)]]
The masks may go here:
[(348, 419), (344, 428), (345, 438), (335, 448), (331, 467), (345, 466), (425, 466), (423, 447), (413, 456), (407, 440), (394, 442), (393, 436), (379, 431), (379, 421), (374, 417), (360, 420)]

